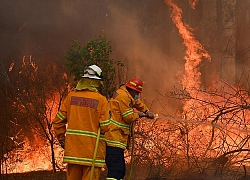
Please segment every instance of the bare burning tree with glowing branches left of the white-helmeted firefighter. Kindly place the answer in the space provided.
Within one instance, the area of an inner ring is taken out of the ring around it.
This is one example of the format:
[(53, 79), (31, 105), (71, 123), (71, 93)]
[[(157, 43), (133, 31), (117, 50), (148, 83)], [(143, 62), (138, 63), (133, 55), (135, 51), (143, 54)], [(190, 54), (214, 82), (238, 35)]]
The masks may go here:
[[(51, 161), (51, 167), (55, 171), (57, 162), (55, 159), (55, 140), (51, 122), (63, 97), (69, 90), (69, 79), (62, 71), (60, 71), (61, 74), (58, 72), (59, 64), (57, 64), (57, 66), (47, 65), (43, 68), (39, 68), (32, 56), (23, 57), (21, 68), (14, 66), (15, 65), (12, 64), (8, 73), (2, 70), (5, 87), (9, 88), (13, 96), (12, 101), (7, 100), (6, 102), (10, 103), (12, 107), (11, 110), (17, 110), (16, 112), (14, 111), (15, 113), (13, 111), (10, 112), (13, 116), (16, 115), (12, 117), (14, 120), (10, 120), (15, 122), (14, 127), (17, 129), (17, 132), (13, 135), (13, 137), (15, 137), (13, 141), (18, 143), (18, 145), (15, 146), (16, 153), (14, 153), (15, 157), (13, 157), (14, 159), (12, 160), (16, 159), (18, 162), (25, 161), (25, 156), (21, 156), (25, 155), (25, 148), (27, 150), (31, 146), (34, 148), (33, 152), (31, 150), (29, 154), (30, 158), (32, 158), (32, 153), (35, 154), (39, 150), (39, 152), (47, 151), (43, 148), (48, 146), (51, 150), (50, 155), (44, 154), (42, 157), (48, 158), (48, 162)], [(13, 70), (13, 68), (15, 69)], [(38, 157), (41, 158), (39, 155)], [(22, 169), (15, 169), (18, 168), (16, 165), (13, 165), (16, 163), (9, 160), (9, 163), (6, 164), (6, 169), (11, 170), (12, 165), (14, 166), (13, 170), (25, 170), (24, 165)], [(40, 168), (50, 167), (43, 159), (39, 159), (39, 161), (35, 163), (35, 165), (28, 165), (26, 171), (29, 170), (29, 167), (36, 166), (36, 168), (38, 168), (38, 164), (42, 165)]]

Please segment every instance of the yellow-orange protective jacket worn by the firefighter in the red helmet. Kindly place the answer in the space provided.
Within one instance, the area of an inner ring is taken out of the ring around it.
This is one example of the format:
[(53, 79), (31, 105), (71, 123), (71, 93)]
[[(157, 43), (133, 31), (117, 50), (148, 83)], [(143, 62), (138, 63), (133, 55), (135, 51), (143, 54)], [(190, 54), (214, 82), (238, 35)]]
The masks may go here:
[(109, 101), (112, 111), (109, 131), (105, 133), (108, 146), (126, 149), (130, 136), (131, 124), (139, 118), (134, 108), (140, 112), (149, 111), (140, 100), (135, 101), (125, 86), (121, 86)]

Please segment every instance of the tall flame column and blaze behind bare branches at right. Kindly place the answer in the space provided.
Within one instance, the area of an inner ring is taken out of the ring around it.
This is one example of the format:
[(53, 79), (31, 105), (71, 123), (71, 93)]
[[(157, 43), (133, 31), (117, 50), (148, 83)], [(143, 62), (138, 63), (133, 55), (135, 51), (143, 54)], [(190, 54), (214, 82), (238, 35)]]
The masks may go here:
[[(198, 0), (189, 1), (193, 9), (197, 2)], [(192, 29), (183, 23), (181, 8), (172, 0), (165, 0), (165, 3), (172, 9), (172, 21), (186, 47), (185, 75), (181, 80), (183, 89), (188, 93), (187, 100), (183, 102), (184, 120), (211, 124), (211, 126), (201, 127), (193, 126), (187, 121), (188, 141), (195, 149), (193, 154), (197, 157), (216, 157), (220, 153), (237, 152), (239, 144), (248, 138), (248, 122), (242, 123), (249, 117), (246, 111), (248, 107), (243, 108), (242, 104), (248, 104), (249, 95), (224, 82), (217, 84), (218, 87), (220, 86), (217, 91), (213, 91), (216, 89), (214, 86), (209, 87), (210, 92), (201, 89), (199, 65), (203, 59), (210, 61), (211, 57), (195, 39)], [(244, 147), (248, 149), (249, 144), (246, 142)], [(237, 158), (242, 158), (244, 153), (242, 154)]]

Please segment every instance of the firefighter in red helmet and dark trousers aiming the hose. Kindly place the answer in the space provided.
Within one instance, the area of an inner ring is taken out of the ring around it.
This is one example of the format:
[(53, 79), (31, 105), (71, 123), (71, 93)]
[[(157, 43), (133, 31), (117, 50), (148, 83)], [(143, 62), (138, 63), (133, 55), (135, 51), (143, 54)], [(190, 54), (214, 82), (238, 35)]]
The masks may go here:
[(154, 119), (154, 114), (139, 100), (142, 86), (140, 79), (132, 78), (109, 101), (112, 118), (105, 133), (107, 180), (121, 180), (125, 176), (124, 150), (128, 148), (132, 123), (144, 116)]

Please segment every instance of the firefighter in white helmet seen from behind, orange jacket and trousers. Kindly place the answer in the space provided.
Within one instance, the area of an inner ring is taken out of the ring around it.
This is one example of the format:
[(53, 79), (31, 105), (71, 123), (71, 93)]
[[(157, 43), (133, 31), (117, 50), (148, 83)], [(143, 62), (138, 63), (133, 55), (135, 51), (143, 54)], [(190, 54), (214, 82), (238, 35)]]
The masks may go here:
[(98, 91), (102, 83), (102, 70), (96, 65), (87, 67), (53, 120), (56, 137), (64, 148), (63, 162), (68, 163), (67, 180), (99, 180), (105, 164), (104, 133), (110, 117), (108, 101)]

